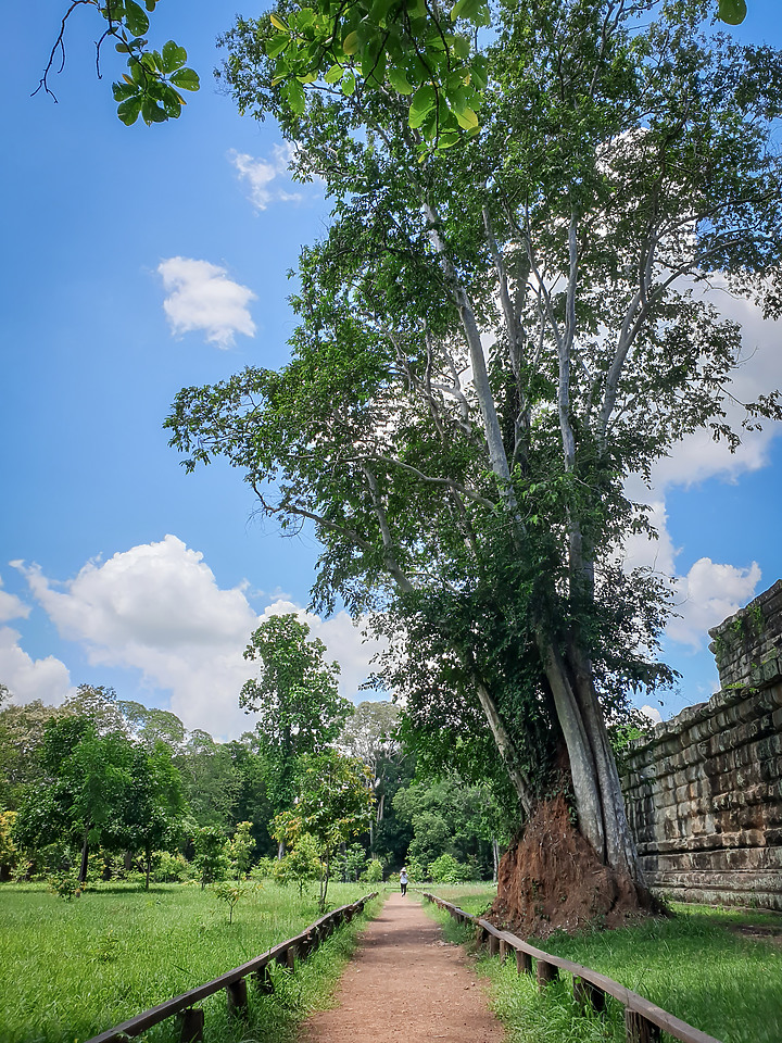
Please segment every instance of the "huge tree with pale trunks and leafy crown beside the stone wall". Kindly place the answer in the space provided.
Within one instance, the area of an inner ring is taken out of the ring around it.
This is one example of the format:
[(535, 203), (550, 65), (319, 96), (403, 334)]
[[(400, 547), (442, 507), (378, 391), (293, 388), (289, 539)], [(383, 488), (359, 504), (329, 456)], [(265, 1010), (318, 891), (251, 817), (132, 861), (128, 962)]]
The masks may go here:
[(704, 289), (782, 300), (782, 62), (704, 35), (709, 11), (503, 2), (481, 125), (446, 142), (450, 37), (412, 109), (317, 48), (291, 105), (278, 28), (239, 21), (224, 75), (333, 221), (302, 253), (291, 362), (186, 389), (167, 420), (188, 467), (224, 455), (269, 516), (314, 523), (316, 604), (383, 611), (421, 728), (488, 729), (524, 815), (564, 772), (596, 857), (641, 887), (606, 720), (668, 676), (667, 605), (620, 567), (648, 528), (623, 483), (699, 428), (737, 440), (741, 330)]

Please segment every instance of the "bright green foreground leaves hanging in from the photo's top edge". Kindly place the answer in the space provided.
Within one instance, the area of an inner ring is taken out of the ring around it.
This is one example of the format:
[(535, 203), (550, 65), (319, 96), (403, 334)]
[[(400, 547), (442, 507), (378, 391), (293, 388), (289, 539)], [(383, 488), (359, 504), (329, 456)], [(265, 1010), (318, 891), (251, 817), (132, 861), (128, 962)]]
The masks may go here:
[[(139, 115), (147, 125), (178, 118), (186, 103), (180, 91), (198, 90), (199, 76), (186, 66), (187, 51), (168, 40), (151, 49), (147, 33), (159, 0), (72, 0), (63, 16), (38, 89), (53, 96), (50, 76), (65, 63), (65, 28), (73, 12), (93, 8), (105, 28), (96, 43), (100, 76), (101, 47), (114, 40), (127, 54), (128, 73), (113, 84), (117, 116), (131, 126)], [(640, 0), (638, 13), (653, 5)], [(746, 0), (717, 0), (716, 17), (739, 25), (746, 17)], [(276, 79), (287, 104), (303, 112), (304, 86), (325, 83), (346, 96), (362, 92), (409, 98), (411, 127), (424, 141), (450, 148), (462, 135), (479, 128), (476, 112), (488, 83), (483, 55), (476, 47), (481, 28), (490, 25), (485, 0), (456, 0), (441, 10), (426, 0), (318, 0), (305, 5), (280, 4), (260, 35), (266, 54), (275, 60)], [(240, 20), (240, 26), (242, 22)], [(253, 26), (254, 23), (247, 23)], [(56, 99), (55, 99), (56, 100)]]

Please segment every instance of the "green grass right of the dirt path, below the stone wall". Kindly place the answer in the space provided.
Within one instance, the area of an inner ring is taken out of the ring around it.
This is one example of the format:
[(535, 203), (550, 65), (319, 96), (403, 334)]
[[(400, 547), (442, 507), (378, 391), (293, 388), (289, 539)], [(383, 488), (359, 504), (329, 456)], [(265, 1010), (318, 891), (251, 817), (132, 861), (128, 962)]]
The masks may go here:
[[(608, 975), (723, 1043), (780, 1043), (782, 948), (730, 930), (742, 925), (779, 927), (780, 917), (690, 906), (677, 906), (676, 913), (672, 919), (620, 931), (530, 941)], [(444, 927), (453, 940), (472, 938), (471, 930), (450, 920)], [(569, 975), (541, 996), (532, 978), (517, 976), (514, 960), (503, 966), (499, 958), (481, 957), (478, 969), (491, 979), (509, 1043), (625, 1040), (621, 1006), (609, 1001), (605, 1020), (581, 1016)]]

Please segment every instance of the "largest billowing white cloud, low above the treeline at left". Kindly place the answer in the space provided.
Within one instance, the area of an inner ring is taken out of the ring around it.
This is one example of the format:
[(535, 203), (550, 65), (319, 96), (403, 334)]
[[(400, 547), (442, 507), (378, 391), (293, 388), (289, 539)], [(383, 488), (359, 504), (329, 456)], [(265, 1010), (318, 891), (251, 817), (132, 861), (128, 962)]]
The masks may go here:
[(78, 642), (90, 664), (140, 670), (152, 690), (150, 703), (155, 691), (164, 690), (169, 708), (188, 728), (203, 728), (216, 738), (253, 726), (239, 708), (239, 692), (252, 675), (242, 652), (267, 615), (305, 616), (340, 662), (345, 694), (354, 694), (368, 673), (370, 650), (362, 646), (345, 613), (321, 620), (278, 600), (258, 617), (245, 585), (220, 589), (203, 555), (174, 536), (104, 563), (90, 562), (65, 583), (50, 580), (36, 566), (20, 567), (61, 636)]

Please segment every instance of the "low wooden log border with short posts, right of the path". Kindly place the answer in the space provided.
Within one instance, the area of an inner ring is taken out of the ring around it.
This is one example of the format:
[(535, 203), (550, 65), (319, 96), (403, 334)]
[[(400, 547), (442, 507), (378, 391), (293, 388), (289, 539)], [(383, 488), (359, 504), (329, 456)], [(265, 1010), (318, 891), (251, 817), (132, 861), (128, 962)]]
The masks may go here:
[(688, 1025), (686, 1021), (682, 1021), (672, 1014), (668, 1014), (667, 1010), (648, 1000), (644, 1000), (636, 992), (620, 985), (613, 978), (600, 975), (589, 967), (582, 967), (581, 964), (575, 964), (570, 959), (564, 959), (562, 956), (552, 956), (551, 953), (544, 953), (515, 934), (501, 931), (489, 920), (471, 916), (436, 894), (430, 894), (428, 891), (421, 891), (420, 893), (425, 899), (449, 913), (457, 922), (471, 925), (475, 928), (477, 944), (479, 946), (488, 945), (490, 954), (500, 953), (504, 957), (507, 952), (515, 951), (518, 973), (531, 975), (532, 960), (534, 959), (535, 979), (541, 991), (545, 989), (550, 981), (558, 977), (560, 970), (565, 970), (572, 975), (573, 996), (580, 1005), (591, 1006), (602, 1013), (605, 1010), (606, 996), (618, 1000), (625, 1008), (627, 1043), (652, 1043), (652, 1041), (659, 1040), (660, 1031), (667, 1032), (681, 1043), (720, 1043), (715, 1036), (702, 1032), (701, 1029), (693, 1028), (692, 1025)]

